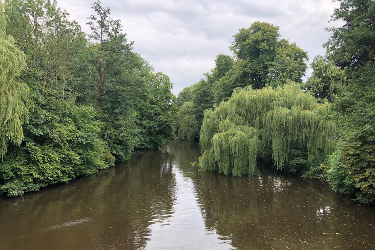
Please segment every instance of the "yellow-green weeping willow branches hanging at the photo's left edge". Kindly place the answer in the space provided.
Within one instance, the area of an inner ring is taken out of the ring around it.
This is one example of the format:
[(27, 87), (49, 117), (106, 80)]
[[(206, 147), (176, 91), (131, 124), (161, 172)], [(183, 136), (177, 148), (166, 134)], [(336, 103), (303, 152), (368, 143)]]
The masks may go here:
[(8, 142), (20, 145), (22, 124), (28, 122), (32, 106), (29, 89), (18, 77), (25, 68), (25, 55), (5, 33), (6, 18), (0, 2), (0, 158), (5, 156)]

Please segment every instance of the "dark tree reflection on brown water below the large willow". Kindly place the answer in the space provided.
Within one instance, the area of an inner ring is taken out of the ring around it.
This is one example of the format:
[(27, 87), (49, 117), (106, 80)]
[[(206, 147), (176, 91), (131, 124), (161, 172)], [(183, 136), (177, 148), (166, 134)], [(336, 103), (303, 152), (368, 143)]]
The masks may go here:
[[(316, 182), (260, 168), (257, 175), (244, 178), (199, 172), (195, 185), (206, 228), (229, 237), (239, 250), (352, 249), (356, 237), (363, 239), (355, 225), (360, 208), (343, 204)], [(340, 207), (355, 216), (333, 209)], [(323, 216), (317, 213), (321, 209)], [(346, 220), (350, 229), (343, 229)], [(333, 237), (343, 230), (348, 238)], [(371, 234), (365, 240), (371, 242)]]

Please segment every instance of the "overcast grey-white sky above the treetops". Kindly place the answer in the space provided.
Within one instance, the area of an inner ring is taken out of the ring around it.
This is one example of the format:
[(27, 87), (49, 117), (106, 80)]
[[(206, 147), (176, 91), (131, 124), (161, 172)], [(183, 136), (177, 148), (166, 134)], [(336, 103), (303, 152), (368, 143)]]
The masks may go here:
[[(83, 31), (94, 14), (94, 0), (58, 0), (58, 5), (78, 21)], [(280, 27), (282, 38), (296, 42), (308, 51), (310, 62), (323, 55), (326, 27), (333, 9), (331, 0), (102, 0), (120, 19), (134, 50), (156, 71), (167, 74), (177, 95), (184, 87), (198, 82), (215, 65), (218, 54), (232, 56), (229, 45), (238, 29), (254, 21), (267, 21)], [(307, 73), (310, 75), (310, 72)]]

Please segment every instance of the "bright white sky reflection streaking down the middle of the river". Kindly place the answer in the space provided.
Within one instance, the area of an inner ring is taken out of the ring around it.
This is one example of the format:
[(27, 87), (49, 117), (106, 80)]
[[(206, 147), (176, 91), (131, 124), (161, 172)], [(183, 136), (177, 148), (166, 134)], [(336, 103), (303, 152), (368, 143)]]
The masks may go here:
[(230, 240), (219, 239), (212, 231), (206, 231), (191, 178), (184, 177), (178, 162), (174, 162), (175, 197), (173, 215), (163, 224), (150, 225), (152, 232), (145, 250), (228, 250)]

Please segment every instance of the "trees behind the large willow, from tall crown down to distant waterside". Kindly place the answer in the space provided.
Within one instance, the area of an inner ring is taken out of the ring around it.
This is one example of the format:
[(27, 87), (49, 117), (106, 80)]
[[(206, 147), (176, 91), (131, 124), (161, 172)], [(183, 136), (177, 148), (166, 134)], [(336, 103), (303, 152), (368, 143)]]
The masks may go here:
[(230, 47), (234, 58), (218, 55), (215, 67), (205, 74), (206, 79), (180, 92), (176, 125), (179, 138), (199, 139), (204, 110), (228, 100), (238, 87), (277, 87), (288, 80), (302, 83), (307, 53), (295, 43), (280, 39), (278, 30), (266, 22), (254, 22), (249, 28), (240, 29)]

